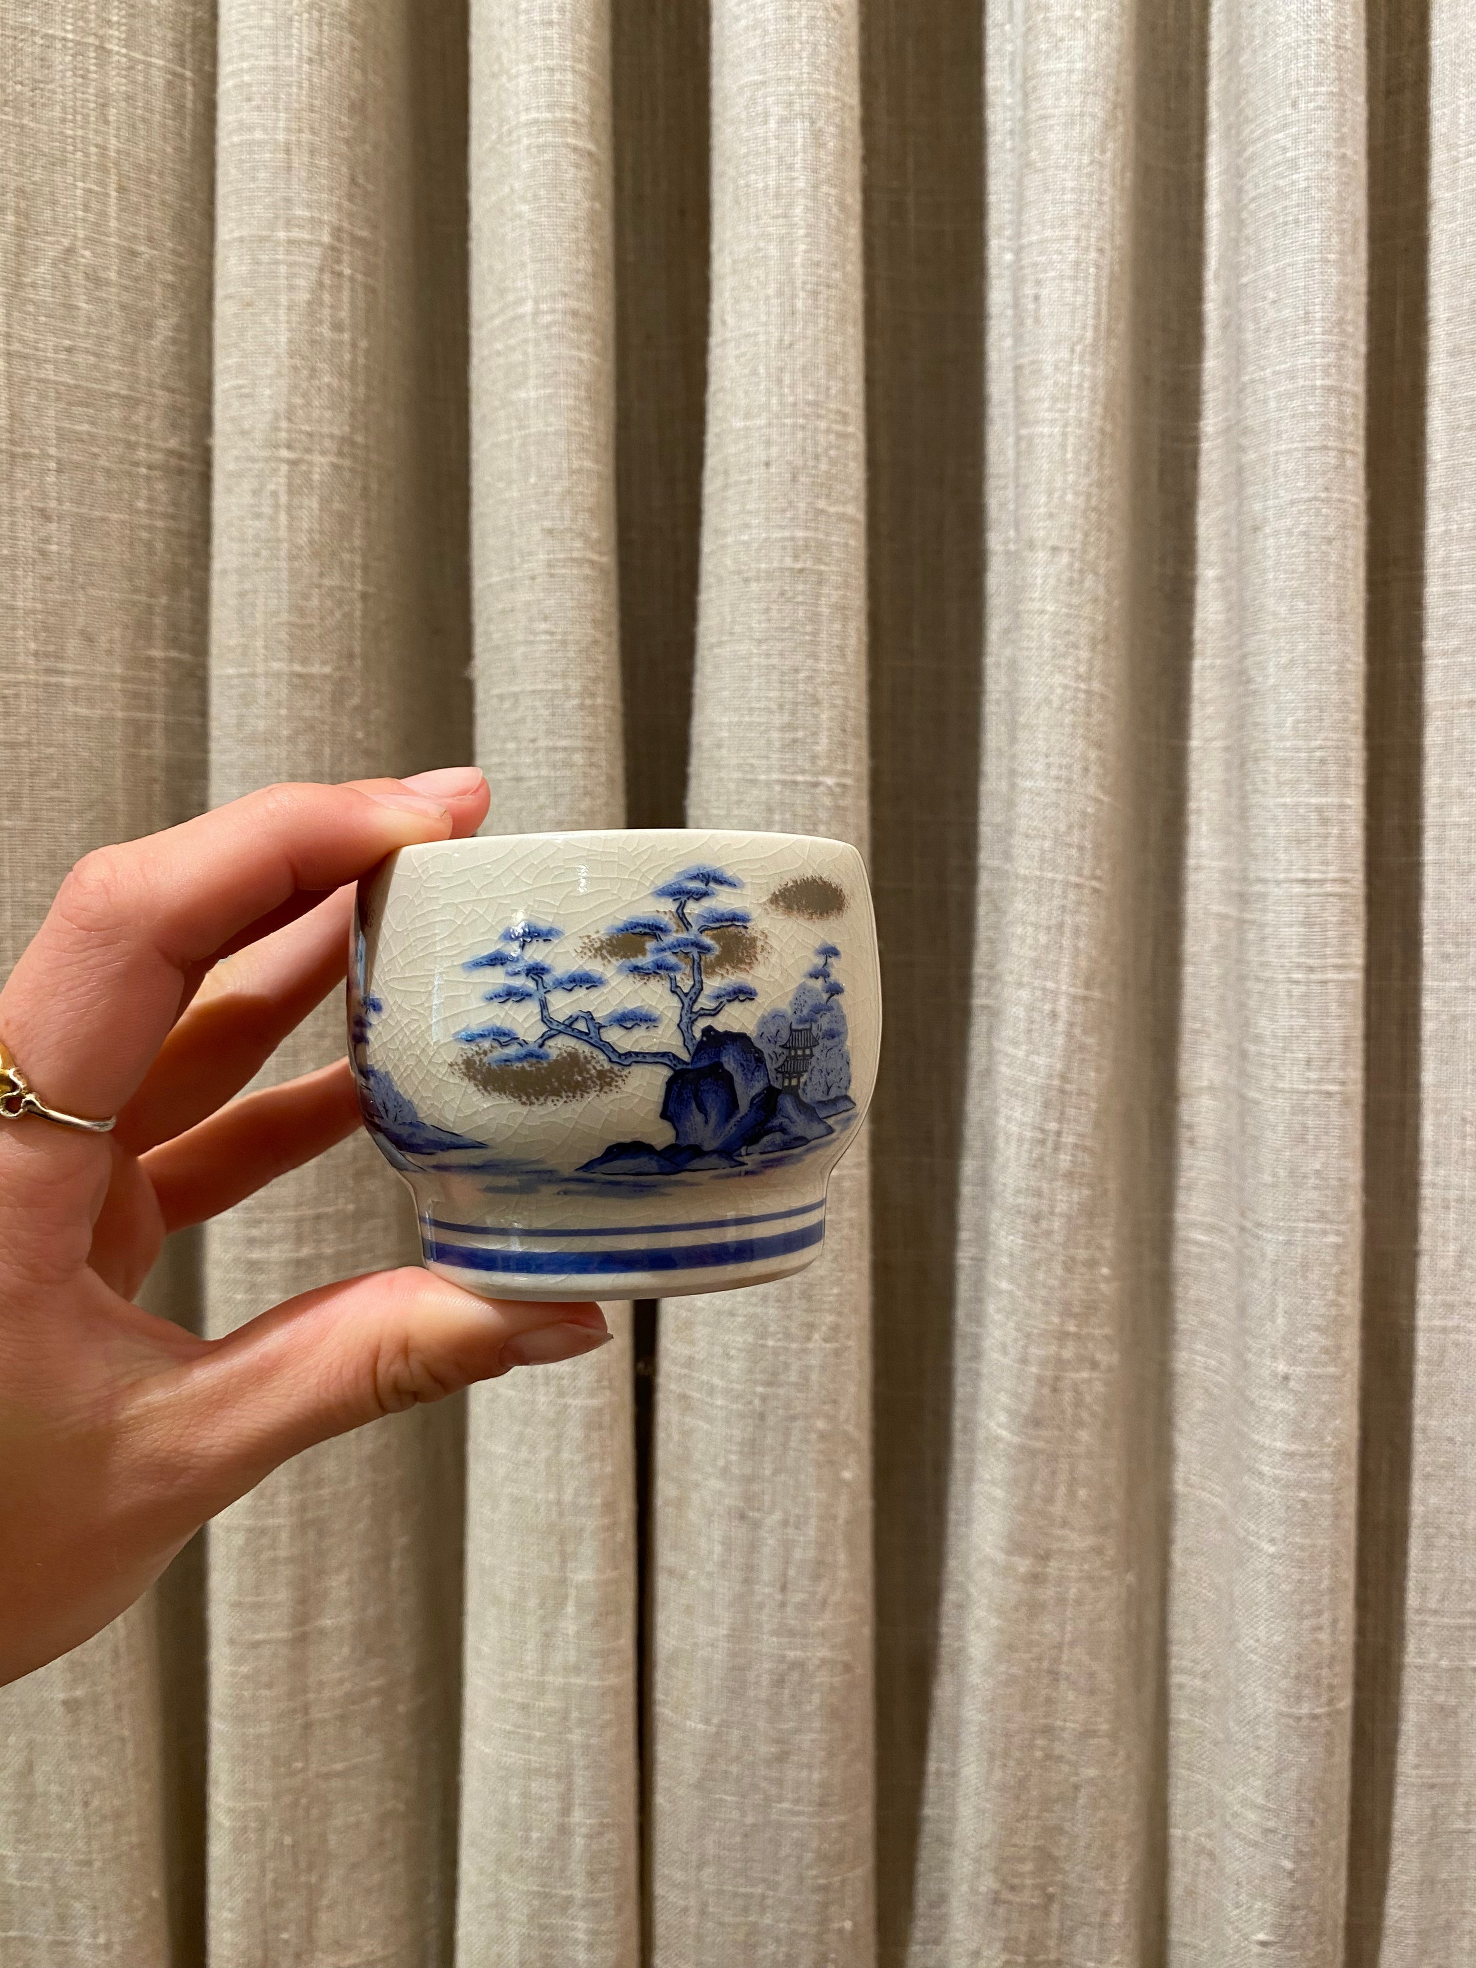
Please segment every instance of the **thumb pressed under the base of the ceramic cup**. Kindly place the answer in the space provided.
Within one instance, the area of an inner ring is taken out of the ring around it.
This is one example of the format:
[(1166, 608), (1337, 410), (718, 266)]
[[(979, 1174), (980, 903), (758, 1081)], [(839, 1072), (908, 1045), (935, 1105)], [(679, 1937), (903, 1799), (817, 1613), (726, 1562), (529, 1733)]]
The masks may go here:
[(588, 1301), (478, 1299), (431, 1271), (376, 1271), (285, 1299), (203, 1348), (169, 1395), (171, 1433), (185, 1421), (205, 1486), (228, 1492), (211, 1504), (220, 1509), (331, 1435), (610, 1338)]

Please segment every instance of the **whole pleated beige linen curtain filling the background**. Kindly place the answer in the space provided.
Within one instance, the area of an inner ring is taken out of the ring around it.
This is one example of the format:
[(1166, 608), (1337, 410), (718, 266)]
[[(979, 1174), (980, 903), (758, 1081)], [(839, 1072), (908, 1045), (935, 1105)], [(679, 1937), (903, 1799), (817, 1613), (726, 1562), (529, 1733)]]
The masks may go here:
[[(4, 1968), (1476, 1958), (1472, 104), (1460, 0), (12, 0), (4, 960), (474, 756), (860, 842), (888, 1043), (811, 1271), (0, 1694)], [(409, 1252), (356, 1141), (150, 1293)]]

